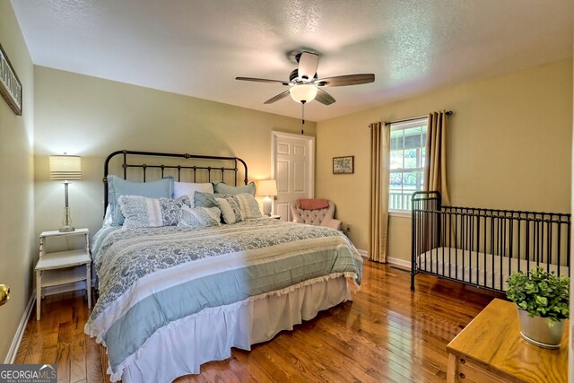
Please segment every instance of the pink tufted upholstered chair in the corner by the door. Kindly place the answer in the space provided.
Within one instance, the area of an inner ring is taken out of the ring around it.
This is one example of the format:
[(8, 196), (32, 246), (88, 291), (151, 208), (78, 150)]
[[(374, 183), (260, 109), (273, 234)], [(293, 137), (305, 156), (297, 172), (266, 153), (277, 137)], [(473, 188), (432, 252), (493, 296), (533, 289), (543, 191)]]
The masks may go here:
[(326, 199), (298, 199), (291, 202), (291, 215), (293, 222), (341, 230), (341, 221), (333, 218), (335, 216), (335, 204)]

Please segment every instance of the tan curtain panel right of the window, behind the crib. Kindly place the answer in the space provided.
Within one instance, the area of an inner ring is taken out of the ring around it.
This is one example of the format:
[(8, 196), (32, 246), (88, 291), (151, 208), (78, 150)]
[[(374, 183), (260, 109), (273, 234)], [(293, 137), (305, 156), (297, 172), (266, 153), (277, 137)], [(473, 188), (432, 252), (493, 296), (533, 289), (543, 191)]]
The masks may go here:
[(437, 190), (442, 205), (450, 205), (447, 187), (447, 112), (431, 112), (427, 131), (424, 190)]

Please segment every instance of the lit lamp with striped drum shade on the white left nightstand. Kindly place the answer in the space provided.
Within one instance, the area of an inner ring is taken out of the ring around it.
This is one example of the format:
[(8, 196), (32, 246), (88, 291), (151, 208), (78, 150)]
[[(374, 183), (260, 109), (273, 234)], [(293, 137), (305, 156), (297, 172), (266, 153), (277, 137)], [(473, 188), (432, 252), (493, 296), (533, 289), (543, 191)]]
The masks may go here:
[(82, 179), (82, 160), (77, 155), (51, 155), (50, 156), (50, 179), (63, 180), (65, 192), (64, 218), (61, 232), (74, 231), (70, 207), (68, 205), (68, 184), (71, 179)]

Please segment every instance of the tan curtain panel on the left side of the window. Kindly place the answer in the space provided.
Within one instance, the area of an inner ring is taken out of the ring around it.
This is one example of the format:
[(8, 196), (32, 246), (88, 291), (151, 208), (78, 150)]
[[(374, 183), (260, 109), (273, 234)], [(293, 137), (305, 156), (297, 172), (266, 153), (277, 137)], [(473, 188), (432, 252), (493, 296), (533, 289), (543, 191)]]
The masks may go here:
[(369, 257), (387, 262), (388, 182), (390, 128), (383, 123), (370, 124), (370, 243)]

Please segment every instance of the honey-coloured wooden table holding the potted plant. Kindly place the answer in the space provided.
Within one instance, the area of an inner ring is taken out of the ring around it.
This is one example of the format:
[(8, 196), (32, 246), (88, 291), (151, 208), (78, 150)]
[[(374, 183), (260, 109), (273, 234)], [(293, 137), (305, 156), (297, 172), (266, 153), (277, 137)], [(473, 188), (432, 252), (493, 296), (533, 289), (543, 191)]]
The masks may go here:
[(568, 328), (559, 350), (529, 344), (520, 336), (514, 303), (495, 299), (447, 346), (447, 382), (568, 381)]

